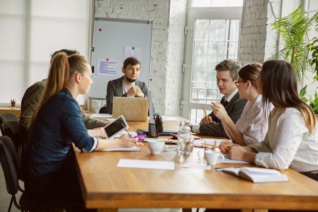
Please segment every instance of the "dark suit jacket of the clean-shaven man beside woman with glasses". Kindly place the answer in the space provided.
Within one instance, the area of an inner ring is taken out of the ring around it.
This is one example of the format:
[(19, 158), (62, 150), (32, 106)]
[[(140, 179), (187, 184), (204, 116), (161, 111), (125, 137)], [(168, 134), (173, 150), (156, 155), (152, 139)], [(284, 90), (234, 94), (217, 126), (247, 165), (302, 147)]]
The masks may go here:
[[(245, 107), (247, 100), (241, 99), (239, 93), (237, 93), (230, 102), (225, 106), (225, 109), (228, 111), (228, 115), (233, 120), (234, 124), (241, 117), (243, 109)], [(220, 103), (224, 105), (224, 97), (221, 99)], [(218, 136), (229, 138), (227, 133), (224, 130), (224, 127), (221, 123), (221, 120), (218, 119), (213, 112), (209, 114), (212, 117), (212, 120), (216, 122), (214, 125), (201, 125), (200, 126), (200, 135), (209, 135), (209, 136)]]

